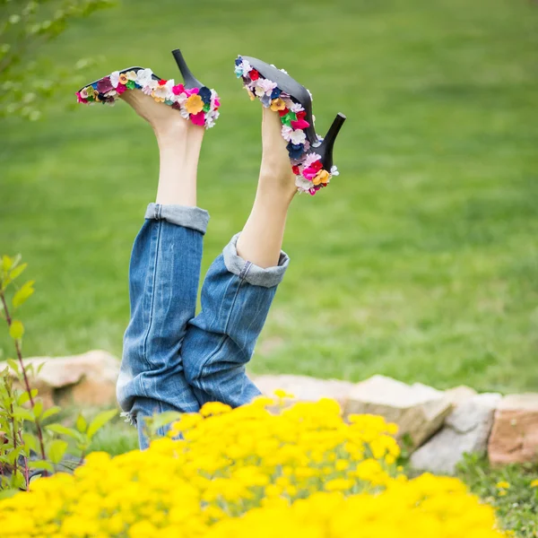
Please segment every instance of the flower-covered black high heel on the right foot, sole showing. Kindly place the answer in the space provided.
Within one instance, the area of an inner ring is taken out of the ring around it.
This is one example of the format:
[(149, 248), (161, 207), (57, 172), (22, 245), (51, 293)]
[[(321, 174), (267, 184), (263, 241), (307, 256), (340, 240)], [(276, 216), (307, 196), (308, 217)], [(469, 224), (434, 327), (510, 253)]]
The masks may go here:
[(318, 136), (312, 116), (312, 95), (285, 71), (249, 56), (236, 59), (235, 73), (251, 100), (280, 114), (282, 137), (288, 143), (291, 169), (299, 192), (315, 195), (326, 187), (338, 169), (333, 165), (333, 148), (345, 116), (337, 114), (325, 138)]

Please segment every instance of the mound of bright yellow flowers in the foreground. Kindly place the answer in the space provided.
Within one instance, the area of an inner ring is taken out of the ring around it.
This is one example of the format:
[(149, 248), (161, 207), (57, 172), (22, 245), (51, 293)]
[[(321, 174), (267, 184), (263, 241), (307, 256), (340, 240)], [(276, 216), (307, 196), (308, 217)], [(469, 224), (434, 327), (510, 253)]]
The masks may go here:
[(269, 412), (206, 404), (145, 452), (88, 456), (74, 475), (0, 501), (0, 533), (129, 538), (500, 538), (456, 479), (398, 474), (396, 428), (346, 423), (332, 400)]

